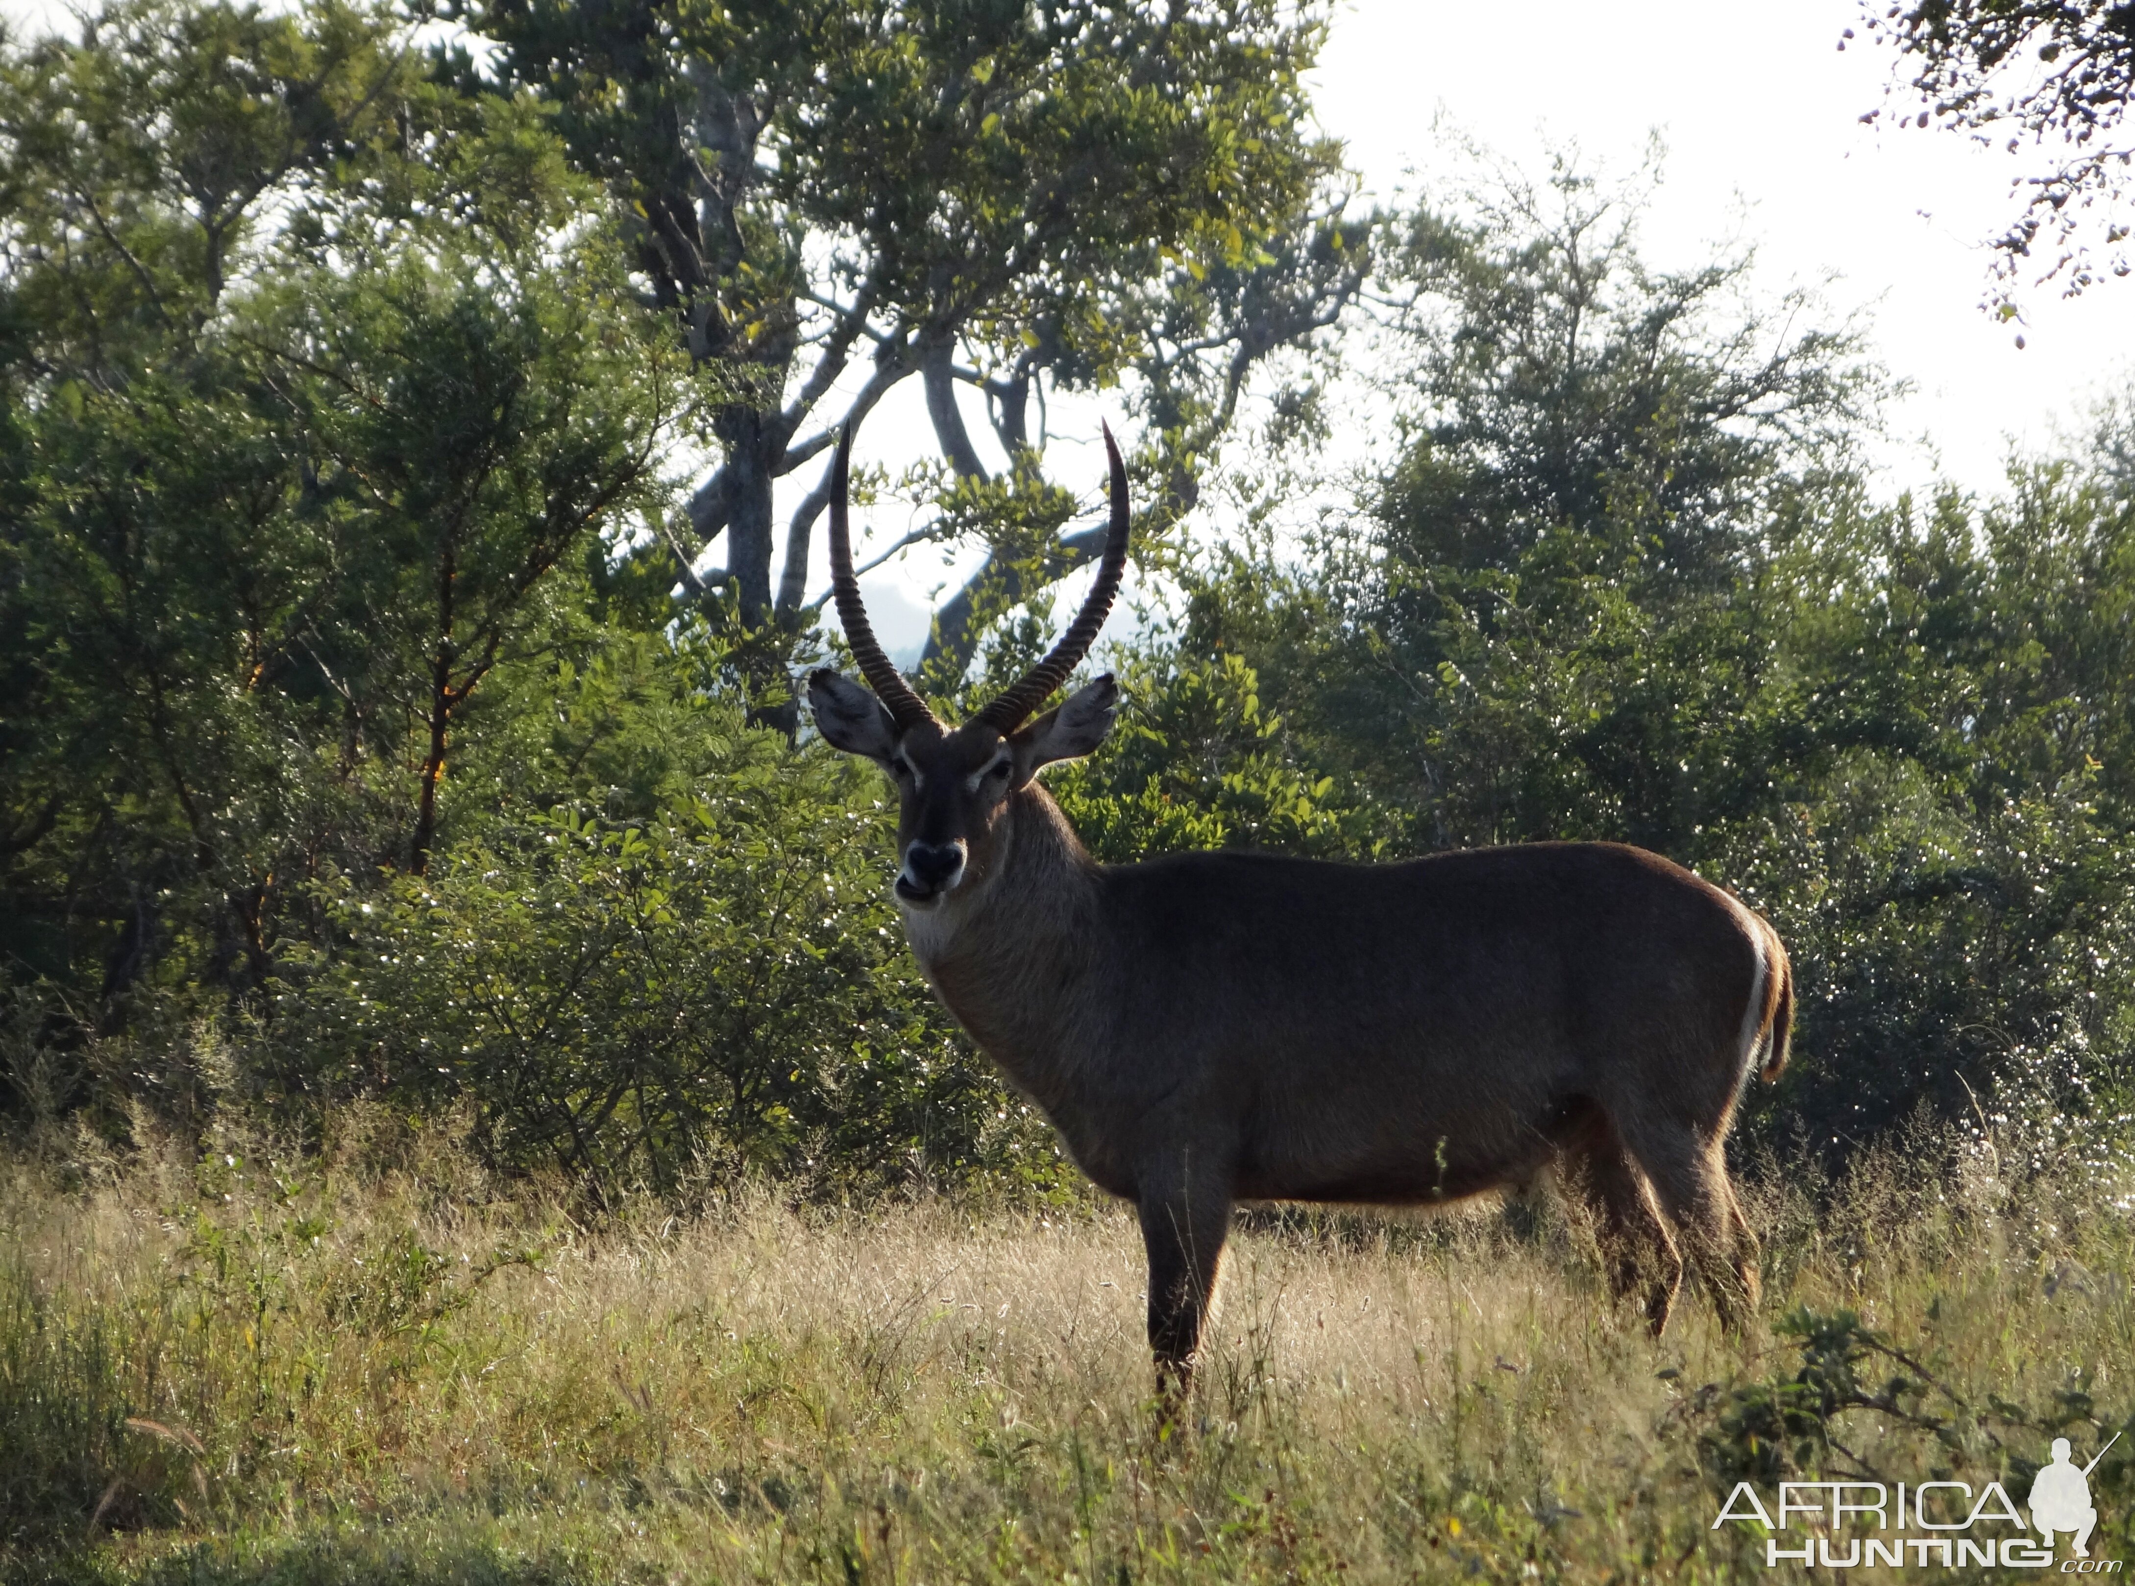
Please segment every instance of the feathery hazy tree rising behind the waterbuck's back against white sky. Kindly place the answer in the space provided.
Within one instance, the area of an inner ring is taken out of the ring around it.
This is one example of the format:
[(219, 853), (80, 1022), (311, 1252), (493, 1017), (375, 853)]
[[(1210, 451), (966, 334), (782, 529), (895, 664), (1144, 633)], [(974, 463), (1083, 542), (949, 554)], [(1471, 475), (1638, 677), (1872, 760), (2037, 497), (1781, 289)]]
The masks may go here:
[[(1667, 687), (1727, 715), (1727, 657), (1768, 638), (1738, 587), (1875, 397), (1847, 331), (1740, 301), (1746, 260), (1646, 267), (1642, 201), (1559, 164), (1403, 218), (1379, 248), (1401, 453), (1296, 596), (1240, 568), (1196, 606), (1187, 643), (1245, 623), (1268, 704), (1407, 843), (1670, 850), (1706, 717), (1618, 666), (1665, 647)], [(1275, 619), (1300, 600), (1324, 610)]]

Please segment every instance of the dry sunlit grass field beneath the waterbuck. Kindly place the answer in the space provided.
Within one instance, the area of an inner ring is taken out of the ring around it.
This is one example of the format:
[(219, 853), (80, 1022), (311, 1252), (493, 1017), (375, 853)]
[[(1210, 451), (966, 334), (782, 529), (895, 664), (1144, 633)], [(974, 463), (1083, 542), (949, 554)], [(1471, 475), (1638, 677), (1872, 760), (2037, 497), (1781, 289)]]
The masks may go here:
[[(2131, 1424), (2131, 1183), (1917, 1142), (1753, 1176), (1766, 1309), (1663, 1341), (1548, 1202), (1253, 1215), (1193, 1405), (1100, 1204), (598, 1221), (348, 1131), (0, 1163), (0, 1563), (152, 1582), (1778, 1580), (1734, 1479), (2028, 1488)], [(380, 1161), (389, 1165), (380, 1165)], [(361, 1165), (359, 1165), (361, 1163)], [(2092, 1475), (2129, 1548), (2135, 1460)], [(2018, 1492), (2022, 1501), (2022, 1492)], [(1798, 1571), (1796, 1571), (1798, 1573)], [(1819, 1571), (1821, 1573), (1821, 1571)]]

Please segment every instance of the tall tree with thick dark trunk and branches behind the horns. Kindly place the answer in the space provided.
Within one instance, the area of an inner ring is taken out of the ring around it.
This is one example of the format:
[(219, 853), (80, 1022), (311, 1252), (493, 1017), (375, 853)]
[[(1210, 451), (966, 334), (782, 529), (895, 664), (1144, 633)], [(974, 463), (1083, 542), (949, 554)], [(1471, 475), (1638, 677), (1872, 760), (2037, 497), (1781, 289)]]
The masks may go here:
[[(954, 683), (986, 619), (1095, 553), (1059, 536), (1074, 497), (1042, 472), (1048, 391), (1134, 382), (1140, 463), (1164, 485), (1146, 536), (1191, 508), (1251, 369), (1362, 282), (1339, 149), (1307, 128), (1322, 23), (1275, 0), (453, 13), (500, 45), (502, 81), (557, 107), (651, 297), (722, 371), (719, 465), (675, 555), (692, 591), (766, 634), (766, 719), (792, 719), (775, 662), (813, 613), (826, 502), (822, 485), (801, 502), (773, 581), (773, 482), (897, 382), (920, 378), (942, 448), (937, 519), (914, 538), (991, 546), (933, 643), (931, 675)], [(480, 81), (465, 58), (461, 77)], [(959, 391), (986, 403), (999, 478)], [(722, 534), (726, 568), (696, 574)]]

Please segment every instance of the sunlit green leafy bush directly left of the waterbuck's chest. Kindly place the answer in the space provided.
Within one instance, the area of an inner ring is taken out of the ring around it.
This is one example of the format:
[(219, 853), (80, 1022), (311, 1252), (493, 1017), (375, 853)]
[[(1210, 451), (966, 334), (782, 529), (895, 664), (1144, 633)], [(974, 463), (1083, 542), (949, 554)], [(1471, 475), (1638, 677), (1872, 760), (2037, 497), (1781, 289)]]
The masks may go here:
[(903, 954), (871, 773), (679, 687), (692, 660), (566, 666), (515, 773), (542, 803), (506, 792), (427, 875), (322, 886), (325, 943), (278, 1003), (284, 1095), (465, 1110), (491, 1161), (598, 1195), (1018, 1165), (1029, 1136)]

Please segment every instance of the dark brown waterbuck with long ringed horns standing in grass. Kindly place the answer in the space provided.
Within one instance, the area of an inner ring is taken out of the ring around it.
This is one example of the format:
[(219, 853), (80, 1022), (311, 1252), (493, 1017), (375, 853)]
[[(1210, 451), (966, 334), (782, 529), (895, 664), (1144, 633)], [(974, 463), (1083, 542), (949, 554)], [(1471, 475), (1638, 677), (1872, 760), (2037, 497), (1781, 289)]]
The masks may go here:
[(1104, 440), (1112, 527), (1082, 610), (950, 726), (869, 630), (848, 435), (831, 576), (873, 694), (818, 670), (809, 702), (824, 739), (897, 783), (897, 905), (929, 982), (1082, 1172), (1140, 1208), (1159, 1381), (1191, 1370), (1236, 1202), (1454, 1202), (1544, 1168), (1591, 1208), (1612, 1287), (1655, 1332), (1685, 1257), (1738, 1328), (1757, 1240), (1723, 1140), (1749, 1074), (1787, 1061), (1772, 926), (1620, 843), (1091, 860), (1038, 773), (1104, 741), (1119, 689), (1100, 677), (1029, 717), (1127, 561), (1127, 472)]

